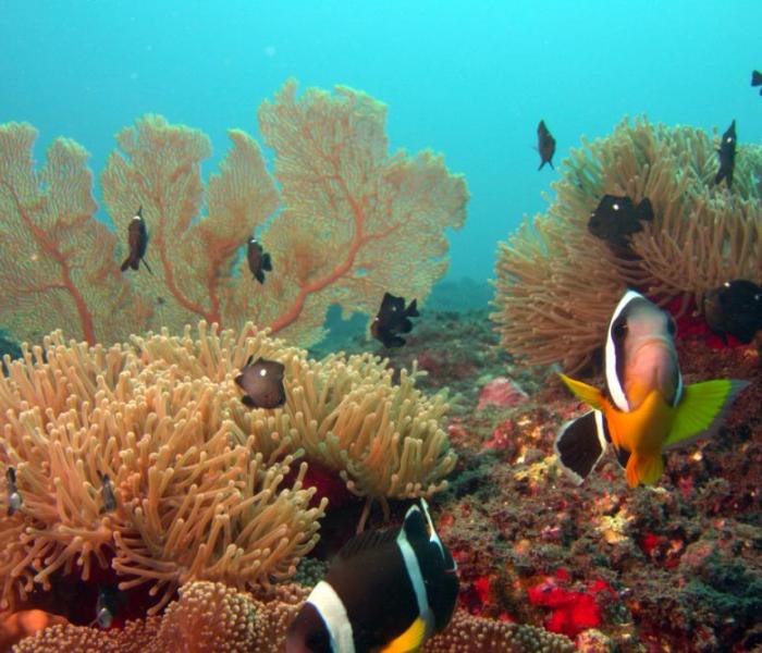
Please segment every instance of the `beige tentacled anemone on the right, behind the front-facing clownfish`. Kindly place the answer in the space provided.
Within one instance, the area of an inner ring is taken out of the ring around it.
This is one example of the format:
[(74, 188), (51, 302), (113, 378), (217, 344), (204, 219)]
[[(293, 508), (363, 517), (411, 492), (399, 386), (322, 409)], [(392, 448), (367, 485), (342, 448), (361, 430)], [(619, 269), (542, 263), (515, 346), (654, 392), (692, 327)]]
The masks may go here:
[[(762, 283), (762, 147), (739, 146), (732, 190), (713, 185), (716, 168), (703, 131), (646, 120), (573, 150), (548, 212), (500, 246), (492, 318), (503, 346), (575, 371), (601, 346), (627, 287), (685, 309), (732, 279)], [(588, 231), (605, 194), (653, 206), (626, 250)]]

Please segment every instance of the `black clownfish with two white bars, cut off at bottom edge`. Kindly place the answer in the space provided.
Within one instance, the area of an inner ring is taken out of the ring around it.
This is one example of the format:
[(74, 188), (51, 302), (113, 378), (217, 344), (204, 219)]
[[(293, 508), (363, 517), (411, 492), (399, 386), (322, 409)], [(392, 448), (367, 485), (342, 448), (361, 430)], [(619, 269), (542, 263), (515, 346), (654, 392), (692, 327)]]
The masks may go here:
[(450, 623), (457, 566), (426, 501), (396, 531), (349, 540), (286, 634), (286, 653), (414, 653)]

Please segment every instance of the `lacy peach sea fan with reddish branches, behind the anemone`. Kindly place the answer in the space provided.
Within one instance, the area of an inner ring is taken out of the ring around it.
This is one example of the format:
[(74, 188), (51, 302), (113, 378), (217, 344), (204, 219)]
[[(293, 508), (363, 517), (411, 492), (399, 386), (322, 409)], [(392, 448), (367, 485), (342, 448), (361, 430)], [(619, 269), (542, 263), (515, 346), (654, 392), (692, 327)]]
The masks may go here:
[[(36, 172), (37, 132), (0, 125), (0, 323), (28, 342), (62, 328), (111, 344), (199, 319), (250, 320), (307, 346), (332, 305), (370, 316), (386, 291), (422, 300), (446, 270), (445, 230), (463, 225), (468, 190), (441, 156), (390, 156), (385, 118), (361, 91), (297, 97), (287, 82), (259, 110), (274, 178), (257, 141), (232, 130), (205, 188), (209, 138), (146, 115), (118, 134), (100, 175), (115, 231), (95, 218), (81, 146), (54, 140)], [(119, 270), (138, 207), (153, 274)], [(273, 261), (263, 285), (241, 256), (257, 233)]]

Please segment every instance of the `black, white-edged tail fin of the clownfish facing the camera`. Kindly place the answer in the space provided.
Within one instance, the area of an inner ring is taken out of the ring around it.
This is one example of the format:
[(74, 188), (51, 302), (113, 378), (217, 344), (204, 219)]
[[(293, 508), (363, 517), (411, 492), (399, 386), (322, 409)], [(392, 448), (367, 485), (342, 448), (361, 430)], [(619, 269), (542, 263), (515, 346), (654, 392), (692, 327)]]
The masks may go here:
[(590, 410), (561, 427), (553, 448), (564, 471), (578, 485), (595, 469), (606, 448), (605, 418)]

